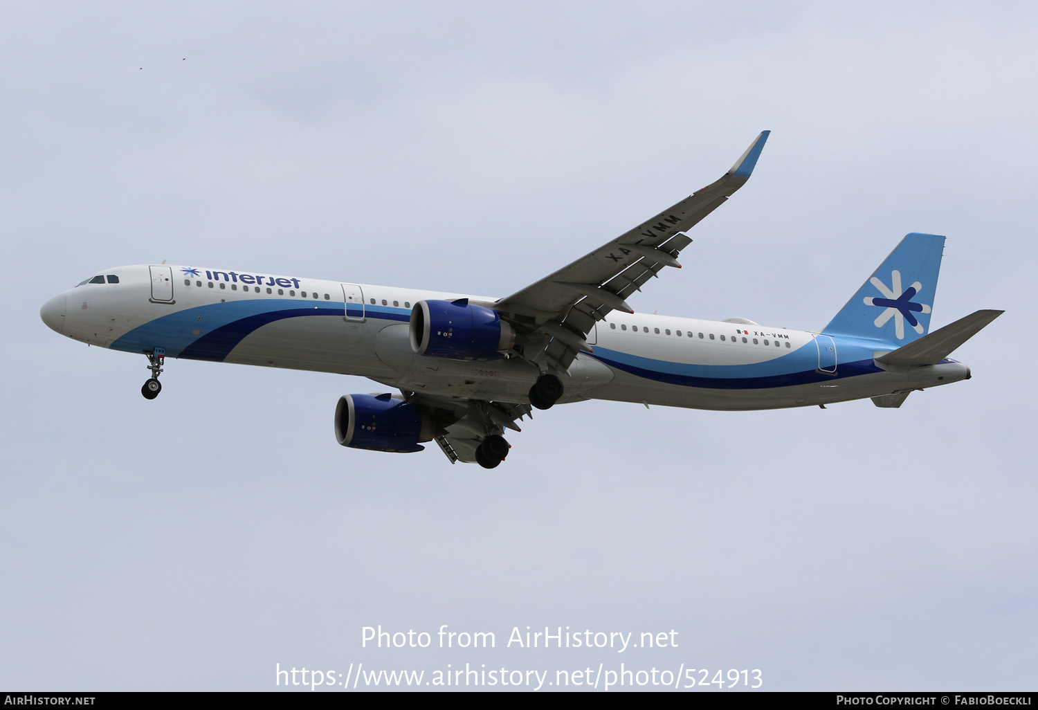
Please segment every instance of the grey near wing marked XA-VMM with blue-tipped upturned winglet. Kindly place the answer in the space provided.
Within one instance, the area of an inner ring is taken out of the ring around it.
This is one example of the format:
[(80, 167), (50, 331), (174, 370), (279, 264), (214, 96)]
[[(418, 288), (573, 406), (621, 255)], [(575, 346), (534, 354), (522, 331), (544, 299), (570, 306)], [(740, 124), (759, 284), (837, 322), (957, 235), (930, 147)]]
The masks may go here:
[[(625, 299), (691, 243), (684, 233), (716, 210), (749, 179), (770, 131), (762, 132), (720, 180), (550, 276), (494, 304), (527, 335), (523, 355), (565, 372), (588, 334), (613, 309), (634, 312)], [(540, 336), (540, 337), (538, 337)]]

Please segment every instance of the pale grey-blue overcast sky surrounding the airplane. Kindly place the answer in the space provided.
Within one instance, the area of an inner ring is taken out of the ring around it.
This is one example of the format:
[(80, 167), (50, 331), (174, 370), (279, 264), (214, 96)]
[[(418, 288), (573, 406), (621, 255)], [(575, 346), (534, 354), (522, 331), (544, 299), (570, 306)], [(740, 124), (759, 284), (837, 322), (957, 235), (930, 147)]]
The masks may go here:
[[(1034, 689), (1036, 30), (1023, 2), (4, 3), (0, 686), (625, 662)], [(947, 235), (932, 327), (1007, 310), (956, 352), (972, 380), (561, 406), (487, 471), (338, 446), (363, 379), (169, 361), (147, 402), (143, 357), (38, 318), (162, 260), (504, 296), (765, 129), (632, 306), (816, 329), (906, 233)], [(497, 648), (362, 649), (379, 624)], [(527, 625), (679, 647), (504, 648)]]

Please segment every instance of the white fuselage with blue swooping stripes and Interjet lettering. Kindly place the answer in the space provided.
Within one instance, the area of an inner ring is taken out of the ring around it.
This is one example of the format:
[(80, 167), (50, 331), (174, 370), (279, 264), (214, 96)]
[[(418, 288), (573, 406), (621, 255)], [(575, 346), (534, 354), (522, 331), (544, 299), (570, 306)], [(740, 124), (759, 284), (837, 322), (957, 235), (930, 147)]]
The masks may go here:
[[(526, 402), (538, 367), (518, 357), (454, 360), (416, 355), (411, 309), (424, 299), (494, 298), (179, 266), (109, 269), (42, 311), (58, 332), (90, 345), (167, 357), (310, 370), (389, 387)], [(107, 276), (117, 277), (109, 283)], [(562, 402), (614, 400), (749, 410), (856, 400), (968, 377), (945, 360), (891, 367), (879, 340), (612, 311), (589, 333)]]

